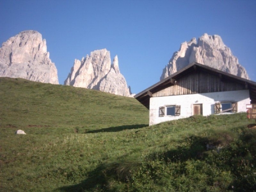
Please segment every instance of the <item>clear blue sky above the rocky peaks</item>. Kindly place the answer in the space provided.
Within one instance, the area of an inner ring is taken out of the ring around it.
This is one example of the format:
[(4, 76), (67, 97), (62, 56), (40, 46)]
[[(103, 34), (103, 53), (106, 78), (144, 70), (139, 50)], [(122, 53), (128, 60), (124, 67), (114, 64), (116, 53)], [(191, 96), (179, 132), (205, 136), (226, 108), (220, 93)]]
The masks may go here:
[(256, 0), (0, 0), (0, 18), (0, 44), (25, 30), (42, 34), (60, 84), (75, 59), (106, 48), (140, 93), (160, 81), (181, 43), (204, 33), (220, 35), (256, 81)]

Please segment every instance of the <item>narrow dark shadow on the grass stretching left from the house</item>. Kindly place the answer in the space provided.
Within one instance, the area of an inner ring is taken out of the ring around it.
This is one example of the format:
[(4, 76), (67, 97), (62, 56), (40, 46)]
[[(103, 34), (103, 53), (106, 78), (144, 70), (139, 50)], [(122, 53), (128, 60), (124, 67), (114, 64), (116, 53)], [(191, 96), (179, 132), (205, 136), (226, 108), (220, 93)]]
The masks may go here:
[(139, 124), (139, 125), (122, 125), (122, 126), (117, 126), (117, 127), (109, 127), (109, 128), (102, 128), (102, 129), (97, 129), (97, 130), (90, 130), (86, 131), (85, 133), (101, 133), (101, 132), (118, 132), (118, 131), (123, 131), (123, 130), (128, 130), (128, 129), (139, 129), (143, 127), (148, 127), (146, 124)]

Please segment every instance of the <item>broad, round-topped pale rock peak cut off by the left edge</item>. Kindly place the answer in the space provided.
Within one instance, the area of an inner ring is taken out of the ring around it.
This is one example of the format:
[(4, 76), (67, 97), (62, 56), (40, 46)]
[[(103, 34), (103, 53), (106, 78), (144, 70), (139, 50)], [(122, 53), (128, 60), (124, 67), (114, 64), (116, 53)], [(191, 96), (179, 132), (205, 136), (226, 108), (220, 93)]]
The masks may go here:
[(23, 31), (0, 48), (0, 76), (59, 84), (45, 39), (37, 31)]

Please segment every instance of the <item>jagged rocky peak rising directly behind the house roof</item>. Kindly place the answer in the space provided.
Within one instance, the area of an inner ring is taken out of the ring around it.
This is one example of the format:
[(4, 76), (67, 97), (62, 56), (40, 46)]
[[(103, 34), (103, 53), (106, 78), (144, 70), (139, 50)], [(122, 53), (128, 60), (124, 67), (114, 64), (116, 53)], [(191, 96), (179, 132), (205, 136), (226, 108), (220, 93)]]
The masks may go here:
[(183, 42), (180, 50), (172, 55), (168, 65), (163, 69), (161, 79), (181, 70), (192, 62), (207, 65), (209, 67), (231, 73), (233, 75), (249, 79), (249, 76), (238, 59), (232, 54), (219, 35), (204, 34), (198, 38), (192, 38), (189, 42)]

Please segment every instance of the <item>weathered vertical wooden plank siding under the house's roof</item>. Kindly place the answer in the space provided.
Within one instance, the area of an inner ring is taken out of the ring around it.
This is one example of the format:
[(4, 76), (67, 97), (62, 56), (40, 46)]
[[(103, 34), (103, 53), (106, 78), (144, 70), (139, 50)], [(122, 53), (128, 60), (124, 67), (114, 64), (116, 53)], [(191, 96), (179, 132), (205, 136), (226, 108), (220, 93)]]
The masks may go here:
[(153, 97), (187, 95), (195, 93), (212, 93), (247, 89), (244, 84), (232, 82), (204, 71), (189, 73), (176, 79), (177, 83), (153, 93)]

